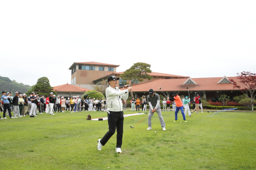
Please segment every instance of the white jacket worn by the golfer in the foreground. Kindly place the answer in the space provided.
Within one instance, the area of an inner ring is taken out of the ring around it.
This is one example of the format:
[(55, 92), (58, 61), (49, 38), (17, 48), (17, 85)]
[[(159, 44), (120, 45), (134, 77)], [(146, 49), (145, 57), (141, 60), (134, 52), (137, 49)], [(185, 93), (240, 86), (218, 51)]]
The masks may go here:
[(112, 88), (109, 86), (106, 88), (106, 98), (108, 99), (107, 110), (122, 111), (123, 104), (121, 99), (127, 100), (128, 94), (128, 90), (120, 90), (118, 87)]

